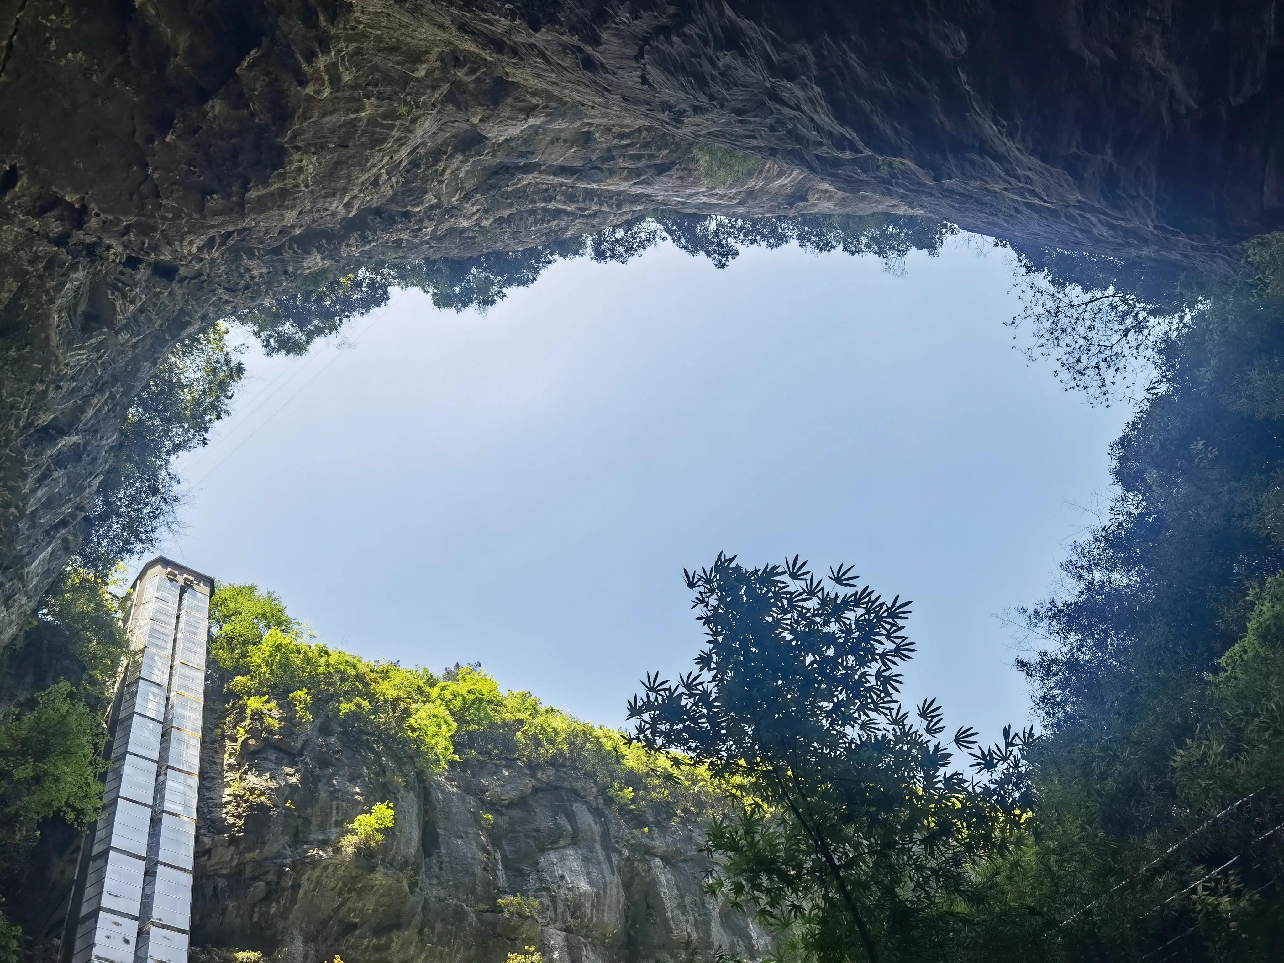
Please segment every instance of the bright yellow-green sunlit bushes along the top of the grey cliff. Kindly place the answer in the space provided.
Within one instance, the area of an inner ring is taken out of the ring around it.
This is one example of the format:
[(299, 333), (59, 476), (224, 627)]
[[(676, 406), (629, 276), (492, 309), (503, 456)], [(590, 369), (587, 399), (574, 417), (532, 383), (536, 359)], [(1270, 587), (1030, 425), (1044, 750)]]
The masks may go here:
[[(265, 741), (343, 729), (410, 758), (425, 774), (457, 758), (565, 765), (625, 815), (646, 810), (677, 820), (716, 805), (705, 770), (677, 765), (529, 692), (505, 692), (476, 666), (439, 678), (333, 650), (257, 586), (220, 586), (209, 611), (211, 663), (232, 696), (226, 724), (234, 758)], [(252, 774), (244, 781), (252, 787)], [(245, 809), (267, 802), (253, 794), (245, 800)]]

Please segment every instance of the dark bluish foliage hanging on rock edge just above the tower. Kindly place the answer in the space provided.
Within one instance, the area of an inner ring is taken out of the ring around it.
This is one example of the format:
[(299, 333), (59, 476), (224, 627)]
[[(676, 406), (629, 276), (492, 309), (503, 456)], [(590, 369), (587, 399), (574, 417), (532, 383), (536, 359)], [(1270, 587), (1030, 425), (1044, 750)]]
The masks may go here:
[(178, 455), (205, 444), (245, 367), (214, 325), (176, 345), (134, 399), (112, 465), (85, 520), (80, 564), (98, 573), (155, 544), (173, 523)]

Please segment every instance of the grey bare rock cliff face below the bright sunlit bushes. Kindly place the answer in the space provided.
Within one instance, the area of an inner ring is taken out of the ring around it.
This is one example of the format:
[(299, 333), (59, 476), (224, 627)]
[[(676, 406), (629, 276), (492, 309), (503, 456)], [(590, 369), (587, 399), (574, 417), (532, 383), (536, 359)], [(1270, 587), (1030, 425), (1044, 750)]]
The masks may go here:
[[(397, 822), (383, 846), (338, 853), (344, 823), (384, 800)], [(456, 765), (422, 782), (338, 736), (230, 755), (209, 737), (194, 958), (503, 963), (538, 946), (550, 963), (761, 959), (768, 935), (702, 894), (698, 846), (690, 822), (621, 815), (561, 767)], [(514, 895), (538, 914), (503, 913)]]

